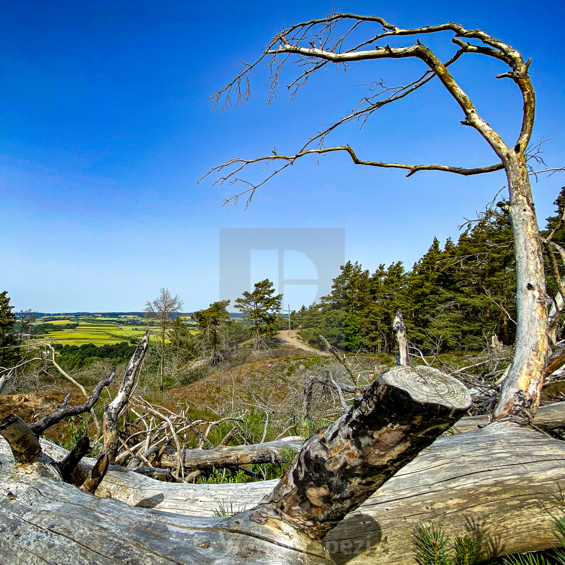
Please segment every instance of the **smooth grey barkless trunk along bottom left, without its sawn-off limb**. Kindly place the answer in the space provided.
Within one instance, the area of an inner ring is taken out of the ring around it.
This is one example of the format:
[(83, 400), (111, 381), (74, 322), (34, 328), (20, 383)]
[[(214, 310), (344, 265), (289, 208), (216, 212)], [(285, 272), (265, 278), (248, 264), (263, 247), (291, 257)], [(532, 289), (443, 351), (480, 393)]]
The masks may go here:
[(195, 518), (132, 508), (6, 467), (0, 467), (1, 563), (332, 563), (323, 545), (289, 528), (255, 524), (245, 513)]

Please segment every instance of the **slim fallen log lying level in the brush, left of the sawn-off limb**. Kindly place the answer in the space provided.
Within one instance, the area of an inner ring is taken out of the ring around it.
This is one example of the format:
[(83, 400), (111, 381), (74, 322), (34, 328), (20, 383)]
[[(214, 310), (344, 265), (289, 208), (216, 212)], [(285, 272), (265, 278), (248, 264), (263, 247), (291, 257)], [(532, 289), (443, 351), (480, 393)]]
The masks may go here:
[[(293, 438), (288, 438), (292, 440)], [(186, 449), (181, 453), (182, 464), (189, 469), (210, 469), (212, 467), (236, 467), (254, 463), (284, 463), (282, 451), (291, 449), (296, 455), (302, 441), (267, 441), (263, 444), (219, 446), (214, 449)], [(161, 459), (164, 466), (177, 463), (177, 452), (165, 453)]]

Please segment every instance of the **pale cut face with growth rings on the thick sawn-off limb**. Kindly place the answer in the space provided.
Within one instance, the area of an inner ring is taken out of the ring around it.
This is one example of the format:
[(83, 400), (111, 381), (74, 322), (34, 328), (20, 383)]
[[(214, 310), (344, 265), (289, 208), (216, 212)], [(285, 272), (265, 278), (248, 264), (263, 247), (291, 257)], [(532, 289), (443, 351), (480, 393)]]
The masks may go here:
[(471, 394), (465, 386), (433, 367), (400, 365), (379, 375), (377, 380), (404, 390), (415, 402), (438, 404), (455, 410), (466, 410), (471, 406)]

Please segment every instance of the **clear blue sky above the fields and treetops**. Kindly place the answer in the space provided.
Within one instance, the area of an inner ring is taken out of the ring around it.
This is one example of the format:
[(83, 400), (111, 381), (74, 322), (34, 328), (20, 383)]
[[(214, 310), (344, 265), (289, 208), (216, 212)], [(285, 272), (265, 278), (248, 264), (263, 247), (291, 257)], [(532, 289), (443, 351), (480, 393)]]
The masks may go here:
[[(138, 310), (167, 286), (185, 309), (218, 297), (221, 227), (345, 228), (346, 258), (374, 269), (411, 266), (434, 236), (457, 237), (505, 184), (502, 173), (464, 178), (355, 167), (343, 155), (304, 160), (264, 186), (251, 207), (227, 213), (230, 186), (197, 180), (225, 160), (294, 151), (362, 95), (357, 85), (402, 84), (417, 63), (359, 63), (345, 77), (322, 73), (289, 104), (271, 108), (254, 75), (244, 107), (210, 111), (207, 97), (251, 62), (282, 25), (320, 17), (331, 2), (26, 2), (0, 6), (0, 290), (16, 308)], [(510, 42), (527, 58), (538, 107), (533, 140), (548, 166), (565, 164), (565, 4), (368, 2), (342, 11), (383, 15), (401, 27), (458, 21)], [(436, 44), (433, 44), (434, 46)], [(449, 47), (449, 40), (446, 41)], [(440, 52), (447, 53), (445, 48)], [(518, 89), (468, 55), (453, 72), (508, 142), (520, 121)], [(397, 82), (398, 81), (398, 82)], [(284, 84), (284, 83), (283, 83)], [(364, 158), (479, 166), (485, 142), (459, 125), (459, 108), (430, 84), (388, 106), (359, 132), (344, 129)], [(561, 176), (559, 176), (561, 175)], [(534, 185), (540, 223), (565, 184)]]

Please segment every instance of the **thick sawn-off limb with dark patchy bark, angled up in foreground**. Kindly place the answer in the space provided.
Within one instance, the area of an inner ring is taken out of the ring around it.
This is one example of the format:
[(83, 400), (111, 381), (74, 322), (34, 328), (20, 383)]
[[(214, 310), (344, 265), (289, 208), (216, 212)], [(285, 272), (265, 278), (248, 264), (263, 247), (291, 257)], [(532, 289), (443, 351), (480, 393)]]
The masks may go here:
[(453, 377), (393, 367), (303, 445), (251, 519), (282, 520), (321, 540), (470, 406), (468, 390)]

